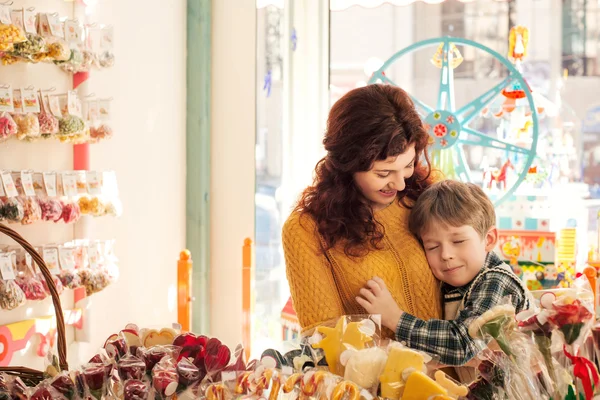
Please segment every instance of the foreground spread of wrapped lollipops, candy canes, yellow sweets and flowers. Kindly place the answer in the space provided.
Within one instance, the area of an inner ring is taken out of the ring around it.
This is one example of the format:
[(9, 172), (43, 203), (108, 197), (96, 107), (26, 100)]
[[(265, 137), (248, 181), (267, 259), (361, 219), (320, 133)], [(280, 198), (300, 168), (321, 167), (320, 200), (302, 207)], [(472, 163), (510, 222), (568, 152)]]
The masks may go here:
[(447, 375), (435, 356), (383, 341), (377, 316), (346, 315), (288, 343), (286, 351), (266, 349), (255, 360), (245, 358), (241, 345), (229, 348), (217, 338), (129, 324), (88, 363), (70, 371), (53, 363), (35, 387), (3, 376), (0, 394), (86, 400), (595, 398), (600, 375), (590, 360), (598, 343), (586, 278), (569, 289), (534, 292), (534, 298), (531, 310), (515, 315), (506, 299), (470, 322), (469, 335), (482, 343), (471, 382)]

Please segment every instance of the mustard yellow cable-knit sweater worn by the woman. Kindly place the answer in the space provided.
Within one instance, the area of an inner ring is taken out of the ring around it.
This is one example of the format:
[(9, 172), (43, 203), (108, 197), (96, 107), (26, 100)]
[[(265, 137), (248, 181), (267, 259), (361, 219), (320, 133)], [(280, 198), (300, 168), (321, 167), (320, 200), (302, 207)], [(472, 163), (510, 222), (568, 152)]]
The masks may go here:
[(375, 218), (385, 227), (383, 249), (371, 250), (358, 259), (347, 257), (341, 245), (329, 250), (326, 257), (314, 220), (298, 212), (289, 216), (283, 226), (283, 251), (303, 331), (345, 314), (364, 313), (355, 297), (373, 276), (385, 281), (402, 310), (425, 320), (441, 318), (439, 283), (408, 230), (409, 213), (398, 202), (376, 212)]

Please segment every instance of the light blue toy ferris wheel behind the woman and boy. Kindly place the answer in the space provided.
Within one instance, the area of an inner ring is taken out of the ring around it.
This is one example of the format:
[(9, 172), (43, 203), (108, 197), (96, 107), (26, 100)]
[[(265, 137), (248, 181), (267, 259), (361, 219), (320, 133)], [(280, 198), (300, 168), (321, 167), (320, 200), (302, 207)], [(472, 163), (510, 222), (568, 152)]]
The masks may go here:
[[(495, 205), (511, 196), (525, 180), (536, 155), (538, 112), (541, 110), (536, 109), (532, 91), (519, 71), (520, 62), (526, 55), (528, 36), (526, 28), (515, 27), (511, 30), (509, 56), (513, 62), (467, 39), (441, 37), (423, 40), (394, 54), (369, 80), (370, 84), (383, 82), (397, 86), (386, 75), (390, 66), (413, 52), (437, 47), (431, 59), (432, 64), (440, 70), (437, 104), (427, 104), (411, 95), (430, 135), (431, 160), (447, 178), (481, 184), (488, 189)], [(488, 53), (508, 70), (501, 82), (459, 108), (455, 104), (454, 69), (462, 63), (463, 58), (457, 45)], [(498, 109), (491, 110), (499, 101), (501, 104)], [(517, 127), (495, 129), (492, 133), (472, 127), (475, 121), (490, 112), (498, 117), (500, 124), (507, 125), (507, 117), (511, 119), (511, 114), (518, 114), (519, 110), (522, 118), (519, 118)], [(503, 131), (504, 134), (501, 133)], [(484, 165), (474, 167), (468, 162), (469, 150), (474, 147), (482, 147), (484, 152), (495, 151), (501, 154), (499, 159), (505, 161), (501, 165), (498, 163), (497, 168)], [(509, 169), (511, 179), (507, 179)]]

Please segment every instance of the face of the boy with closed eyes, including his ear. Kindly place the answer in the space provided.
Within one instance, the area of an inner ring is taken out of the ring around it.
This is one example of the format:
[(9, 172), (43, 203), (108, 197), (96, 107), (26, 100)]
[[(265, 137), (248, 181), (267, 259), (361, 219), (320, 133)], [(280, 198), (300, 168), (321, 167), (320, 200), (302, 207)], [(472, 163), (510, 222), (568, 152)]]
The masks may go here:
[(429, 267), (436, 278), (454, 287), (471, 282), (498, 240), (496, 227), (482, 238), (470, 225), (432, 223), (421, 234)]

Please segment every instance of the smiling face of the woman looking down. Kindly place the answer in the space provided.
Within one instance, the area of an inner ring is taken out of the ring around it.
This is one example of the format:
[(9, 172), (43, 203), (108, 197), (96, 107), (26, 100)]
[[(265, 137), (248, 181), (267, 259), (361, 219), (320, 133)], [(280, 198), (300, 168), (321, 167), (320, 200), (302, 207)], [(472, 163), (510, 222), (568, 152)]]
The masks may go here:
[(405, 180), (415, 170), (415, 145), (404, 153), (386, 160), (375, 161), (369, 171), (354, 174), (354, 182), (373, 207), (373, 211), (387, 207), (396, 194), (406, 187)]

